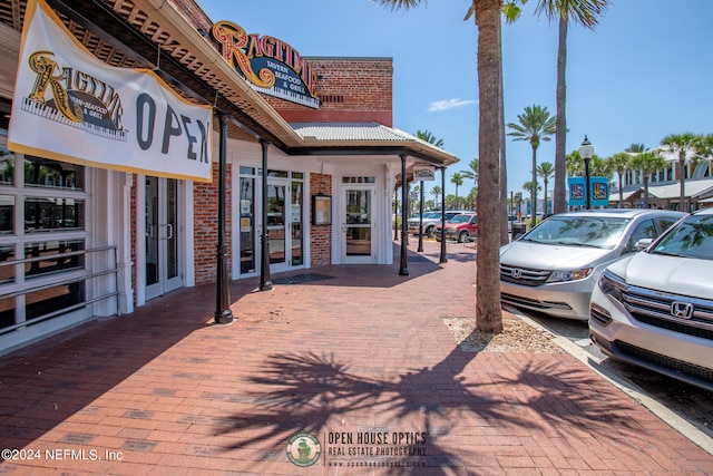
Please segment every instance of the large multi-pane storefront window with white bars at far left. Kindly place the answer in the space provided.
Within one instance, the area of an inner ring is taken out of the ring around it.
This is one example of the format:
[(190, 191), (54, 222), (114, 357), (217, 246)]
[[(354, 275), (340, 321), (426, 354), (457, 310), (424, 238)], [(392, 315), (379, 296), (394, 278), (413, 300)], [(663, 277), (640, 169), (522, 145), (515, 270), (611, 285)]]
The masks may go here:
[(4, 332), (84, 308), (81, 252), (88, 244), (89, 213), (86, 167), (11, 153), (6, 140), (0, 134), (0, 295), (4, 295), (0, 329)]

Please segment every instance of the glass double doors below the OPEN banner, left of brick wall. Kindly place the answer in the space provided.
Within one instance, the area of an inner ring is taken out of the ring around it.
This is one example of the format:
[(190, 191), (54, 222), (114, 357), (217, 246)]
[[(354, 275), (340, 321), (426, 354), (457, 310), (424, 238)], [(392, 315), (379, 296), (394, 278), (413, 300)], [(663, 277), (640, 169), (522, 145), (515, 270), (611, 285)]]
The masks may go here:
[(175, 178), (146, 177), (146, 300), (183, 285), (179, 185)]

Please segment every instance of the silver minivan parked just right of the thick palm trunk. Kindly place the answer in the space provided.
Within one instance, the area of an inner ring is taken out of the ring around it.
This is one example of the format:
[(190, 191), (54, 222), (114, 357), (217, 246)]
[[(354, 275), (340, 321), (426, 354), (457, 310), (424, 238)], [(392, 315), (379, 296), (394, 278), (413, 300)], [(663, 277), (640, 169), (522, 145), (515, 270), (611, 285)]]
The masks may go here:
[(586, 321), (597, 278), (685, 216), (664, 210), (590, 210), (553, 215), (500, 247), (500, 299), (549, 315)]

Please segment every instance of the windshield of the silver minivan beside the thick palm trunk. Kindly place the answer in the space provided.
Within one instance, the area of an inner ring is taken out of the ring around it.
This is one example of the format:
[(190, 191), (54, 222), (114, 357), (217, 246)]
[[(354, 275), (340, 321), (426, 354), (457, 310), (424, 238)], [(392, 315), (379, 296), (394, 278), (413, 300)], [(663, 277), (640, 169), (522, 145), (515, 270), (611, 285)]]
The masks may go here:
[(613, 249), (621, 241), (627, 218), (609, 216), (553, 216), (520, 240), (544, 244)]

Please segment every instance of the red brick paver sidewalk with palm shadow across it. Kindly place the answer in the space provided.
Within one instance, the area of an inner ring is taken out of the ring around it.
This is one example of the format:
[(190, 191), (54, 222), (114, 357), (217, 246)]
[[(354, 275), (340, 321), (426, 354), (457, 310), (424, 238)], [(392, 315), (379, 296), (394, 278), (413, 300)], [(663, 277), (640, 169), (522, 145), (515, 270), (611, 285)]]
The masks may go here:
[(461, 351), (476, 251), (438, 250), (234, 282), (231, 326), (198, 286), (6, 356), (0, 474), (713, 474), (567, 353)]

